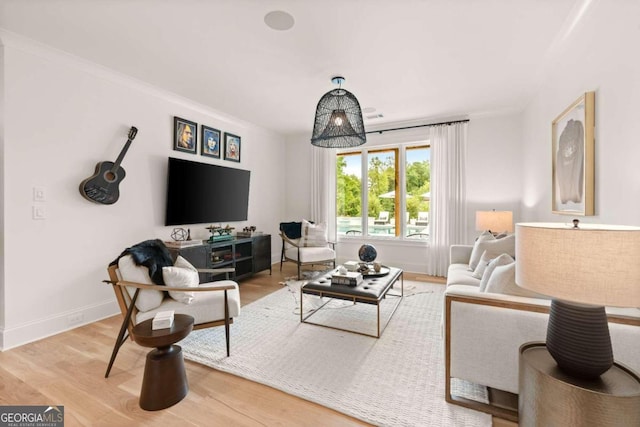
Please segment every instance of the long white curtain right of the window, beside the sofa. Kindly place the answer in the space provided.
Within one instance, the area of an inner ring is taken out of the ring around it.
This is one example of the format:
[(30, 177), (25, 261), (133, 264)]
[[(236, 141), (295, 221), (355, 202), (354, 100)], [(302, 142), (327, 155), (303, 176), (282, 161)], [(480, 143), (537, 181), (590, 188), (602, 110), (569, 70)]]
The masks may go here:
[(429, 128), (431, 143), (431, 230), (427, 274), (446, 276), (449, 247), (466, 242), (465, 163), (467, 122)]

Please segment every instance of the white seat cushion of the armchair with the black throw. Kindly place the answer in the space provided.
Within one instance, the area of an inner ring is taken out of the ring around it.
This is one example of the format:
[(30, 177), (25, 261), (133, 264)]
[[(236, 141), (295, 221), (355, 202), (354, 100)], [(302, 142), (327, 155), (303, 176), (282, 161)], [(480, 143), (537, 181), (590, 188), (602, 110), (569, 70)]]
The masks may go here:
[[(238, 284), (232, 280), (220, 280), (212, 283), (201, 283), (199, 286), (232, 284), (233, 289), (227, 291), (229, 300), (229, 317), (237, 317), (240, 314), (240, 292)], [(224, 320), (224, 291), (194, 292), (191, 304), (183, 304), (166, 297), (159, 307), (146, 312), (139, 312), (136, 316), (136, 324), (147, 319), (152, 319), (159, 311), (173, 310), (175, 314), (188, 314), (194, 319), (194, 324)]]

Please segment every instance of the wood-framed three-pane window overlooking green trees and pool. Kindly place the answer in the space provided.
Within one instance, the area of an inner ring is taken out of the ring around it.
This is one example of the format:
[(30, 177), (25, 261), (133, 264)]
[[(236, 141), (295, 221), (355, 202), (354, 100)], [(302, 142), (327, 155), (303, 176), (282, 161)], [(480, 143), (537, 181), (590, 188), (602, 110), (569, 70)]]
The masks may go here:
[(338, 153), (338, 235), (427, 238), (430, 178), (424, 143)]

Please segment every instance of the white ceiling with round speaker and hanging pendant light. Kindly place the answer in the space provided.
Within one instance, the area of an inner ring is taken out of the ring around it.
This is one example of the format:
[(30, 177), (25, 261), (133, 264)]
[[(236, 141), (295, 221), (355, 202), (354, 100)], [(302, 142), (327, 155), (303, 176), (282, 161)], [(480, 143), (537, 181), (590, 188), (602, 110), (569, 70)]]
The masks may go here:
[[(283, 134), (343, 75), (367, 130), (524, 108), (590, 0), (0, 0), (0, 27)], [(288, 31), (264, 23), (290, 13)], [(375, 109), (371, 111), (371, 109)]]

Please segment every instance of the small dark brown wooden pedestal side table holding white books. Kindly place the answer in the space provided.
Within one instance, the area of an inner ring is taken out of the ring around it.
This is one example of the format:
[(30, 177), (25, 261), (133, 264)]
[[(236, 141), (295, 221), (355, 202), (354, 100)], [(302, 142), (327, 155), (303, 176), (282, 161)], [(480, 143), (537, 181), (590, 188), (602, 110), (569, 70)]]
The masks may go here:
[(180, 402), (189, 391), (182, 348), (174, 343), (193, 329), (193, 317), (176, 314), (173, 325), (151, 329), (153, 319), (133, 327), (133, 339), (143, 347), (156, 347), (147, 354), (140, 392), (140, 407), (147, 411), (168, 408)]

